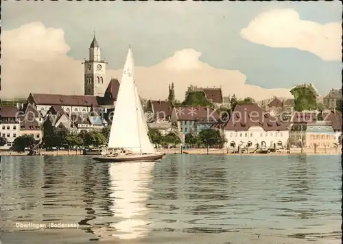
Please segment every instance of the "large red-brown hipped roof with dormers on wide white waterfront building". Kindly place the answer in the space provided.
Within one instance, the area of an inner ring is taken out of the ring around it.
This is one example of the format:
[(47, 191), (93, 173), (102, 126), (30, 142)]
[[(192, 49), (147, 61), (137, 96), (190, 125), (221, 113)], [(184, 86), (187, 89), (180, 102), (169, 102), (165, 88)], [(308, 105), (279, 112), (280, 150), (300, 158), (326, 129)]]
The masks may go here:
[(225, 130), (245, 131), (252, 126), (262, 127), (265, 131), (287, 130), (287, 127), (269, 112), (263, 111), (256, 103), (238, 104), (225, 126)]

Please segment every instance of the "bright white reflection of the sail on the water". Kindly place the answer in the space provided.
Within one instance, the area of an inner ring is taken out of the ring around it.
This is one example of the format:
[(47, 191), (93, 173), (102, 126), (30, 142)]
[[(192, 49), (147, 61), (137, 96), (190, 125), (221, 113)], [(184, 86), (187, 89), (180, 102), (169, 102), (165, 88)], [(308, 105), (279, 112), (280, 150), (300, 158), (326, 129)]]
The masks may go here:
[(147, 184), (154, 162), (126, 162), (110, 164), (110, 210), (119, 220), (110, 223), (115, 228), (113, 236), (120, 239), (134, 239), (147, 234), (144, 215), (147, 212), (145, 201), (150, 191)]

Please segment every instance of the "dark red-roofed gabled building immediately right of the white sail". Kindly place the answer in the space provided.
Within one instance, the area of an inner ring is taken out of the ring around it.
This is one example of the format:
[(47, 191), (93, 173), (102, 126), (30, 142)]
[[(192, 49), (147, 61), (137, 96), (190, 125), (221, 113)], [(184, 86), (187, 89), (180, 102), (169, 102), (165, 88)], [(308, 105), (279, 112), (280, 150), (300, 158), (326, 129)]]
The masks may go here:
[(154, 121), (155, 123), (169, 122), (173, 107), (174, 106), (171, 101), (147, 100), (147, 104), (145, 106), (147, 121)]

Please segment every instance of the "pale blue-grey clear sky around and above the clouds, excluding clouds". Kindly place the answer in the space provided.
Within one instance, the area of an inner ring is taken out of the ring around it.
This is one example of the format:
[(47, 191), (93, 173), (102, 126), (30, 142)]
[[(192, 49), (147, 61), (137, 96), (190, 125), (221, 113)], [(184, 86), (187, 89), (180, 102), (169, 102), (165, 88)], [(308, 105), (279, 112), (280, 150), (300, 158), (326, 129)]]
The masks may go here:
[(5, 1), (2, 27), (11, 30), (40, 21), (62, 28), (71, 47), (68, 55), (86, 58), (93, 29), (109, 62), (120, 69), (130, 42), (137, 66), (152, 66), (175, 51), (191, 48), (200, 61), (215, 68), (239, 70), (247, 83), (263, 88), (289, 88), (313, 83), (324, 94), (341, 84), (342, 62), (327, 61), (309, 51), (273, 48), (250, 42), (239, 32), (262, 12), (292, 8), (300, 19), (341, 23), (336, 2), (32, 2)]

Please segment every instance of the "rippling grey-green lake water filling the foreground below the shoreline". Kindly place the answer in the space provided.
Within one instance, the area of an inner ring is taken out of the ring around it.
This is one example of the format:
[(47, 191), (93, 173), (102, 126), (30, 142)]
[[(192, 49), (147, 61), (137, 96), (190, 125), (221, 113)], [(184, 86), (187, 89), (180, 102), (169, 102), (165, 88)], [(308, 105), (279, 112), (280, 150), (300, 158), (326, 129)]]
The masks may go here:
[(340, 243), (341, 172), (340, 156), (3, 156), (1, 242)]

